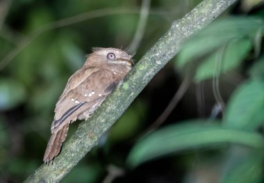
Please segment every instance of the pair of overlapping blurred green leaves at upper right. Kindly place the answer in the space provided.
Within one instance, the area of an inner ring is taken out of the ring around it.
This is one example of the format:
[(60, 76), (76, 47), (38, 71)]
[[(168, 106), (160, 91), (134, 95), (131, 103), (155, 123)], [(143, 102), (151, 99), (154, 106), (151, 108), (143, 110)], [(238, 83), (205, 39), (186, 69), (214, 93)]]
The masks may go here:
[(258, 39), (261, 40), (263, 34), (264, 22), (261, 18), (229, 17), (213, 22), (185, 42), (175, 62), (176, 68), (206, 57), (197, 67), (195, 81), (211, 78), (218, 74), (218, 70), (228, 72), (248, 56), (254, 39), (260, 36)]

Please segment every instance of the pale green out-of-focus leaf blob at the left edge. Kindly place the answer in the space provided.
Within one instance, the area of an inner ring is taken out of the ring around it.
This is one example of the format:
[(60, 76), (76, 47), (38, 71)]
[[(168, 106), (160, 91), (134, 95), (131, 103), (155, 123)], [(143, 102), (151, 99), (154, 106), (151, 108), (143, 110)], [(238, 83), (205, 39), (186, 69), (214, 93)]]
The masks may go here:
[(0, 79), (0, 110), (11, 109), (26, 97), (22, 83), (13, 79)]

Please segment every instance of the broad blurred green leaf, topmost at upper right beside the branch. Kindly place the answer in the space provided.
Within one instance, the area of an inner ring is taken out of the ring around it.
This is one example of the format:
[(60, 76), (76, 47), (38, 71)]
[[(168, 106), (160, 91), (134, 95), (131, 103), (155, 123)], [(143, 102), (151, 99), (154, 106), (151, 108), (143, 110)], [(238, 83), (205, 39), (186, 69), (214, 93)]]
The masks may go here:
[(229, 17), (213, 22), (184, 43), (176, 67), (210, 54), (231, 40), (254, 36), (257, 31), (263, 35), (263, 28), (263, 20), (256, 17)]

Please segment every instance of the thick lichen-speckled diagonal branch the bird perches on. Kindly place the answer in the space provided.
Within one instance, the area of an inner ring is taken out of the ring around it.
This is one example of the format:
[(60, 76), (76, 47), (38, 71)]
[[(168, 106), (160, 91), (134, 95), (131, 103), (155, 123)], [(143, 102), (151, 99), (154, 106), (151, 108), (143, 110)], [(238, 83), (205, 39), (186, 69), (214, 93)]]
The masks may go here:
[(182, 42), (220, 15), (236, 0), (204, 0), (171, 28), (151, 47), (129, 72), (124, 82), (101, 104), (87, 122), (63, 146), (53, 165), (42, 164), (25, 182), (59, 182), (97, 145), (100, 137), (124, 113), (135, 97), (155, 74), (179, 51)]

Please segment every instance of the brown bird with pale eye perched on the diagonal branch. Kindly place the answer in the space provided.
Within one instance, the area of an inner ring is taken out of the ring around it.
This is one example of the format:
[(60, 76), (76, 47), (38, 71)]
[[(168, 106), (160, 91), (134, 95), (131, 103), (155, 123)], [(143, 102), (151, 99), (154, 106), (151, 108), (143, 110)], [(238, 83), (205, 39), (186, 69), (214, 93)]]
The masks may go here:
[(92, 51), (83, 67), (69, 78), (56, 104), (45, 164), (59, 154), (69, 124), (87, 120), (133, 65), (132, 56), (121, 49), (96, 47)]

